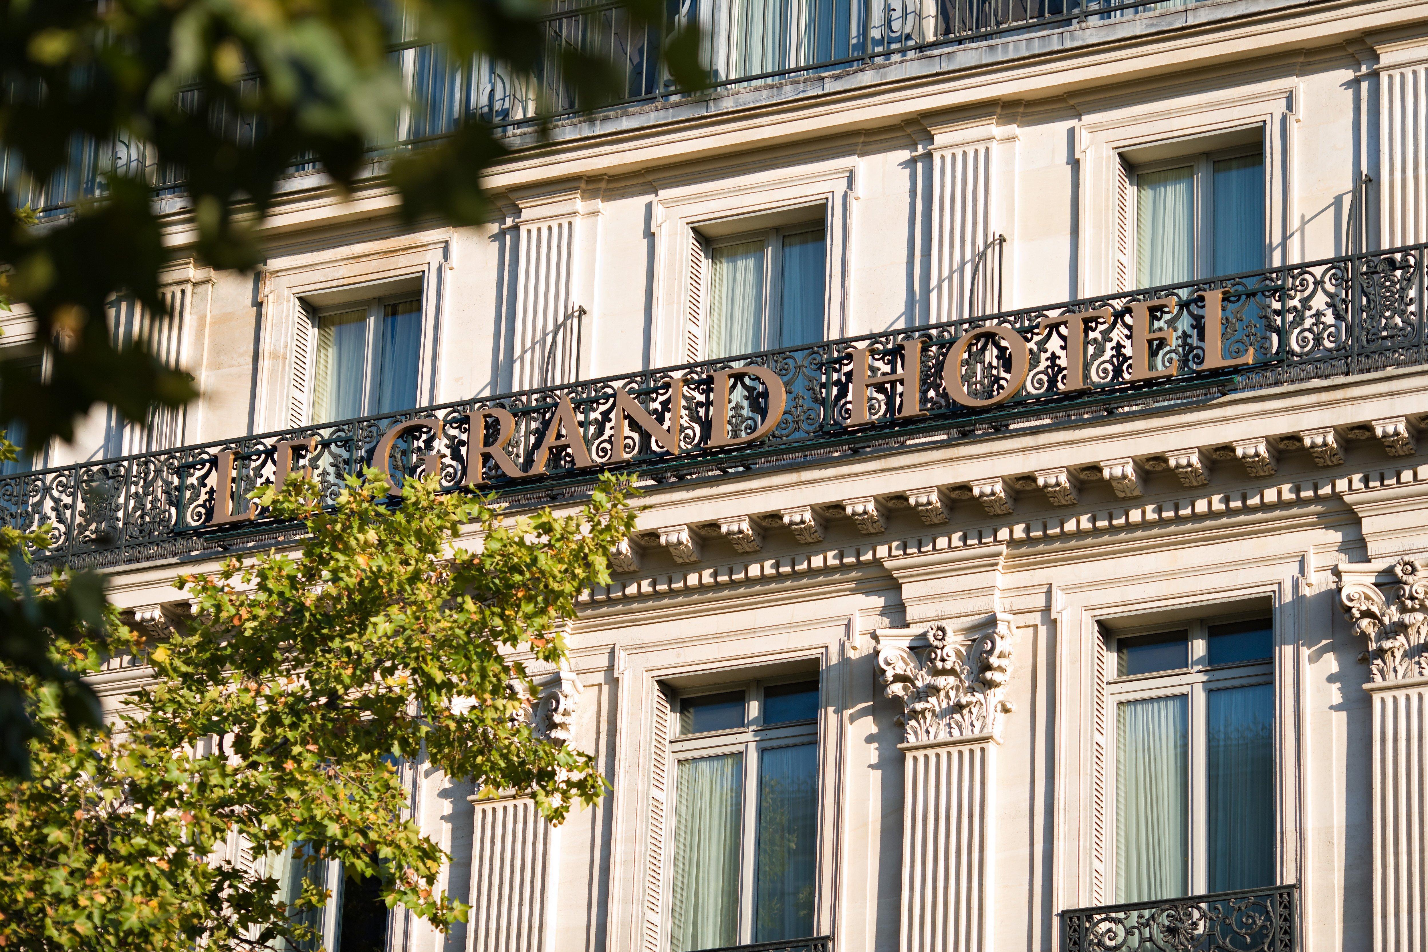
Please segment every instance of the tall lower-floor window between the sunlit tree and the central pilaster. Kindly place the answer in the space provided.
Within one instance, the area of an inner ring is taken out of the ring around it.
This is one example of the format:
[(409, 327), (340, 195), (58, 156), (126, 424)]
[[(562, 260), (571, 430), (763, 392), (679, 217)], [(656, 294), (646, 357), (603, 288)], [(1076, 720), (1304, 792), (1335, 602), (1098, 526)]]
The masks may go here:
[(670, 952), (813, 935), (818, 682), (678, 699)]

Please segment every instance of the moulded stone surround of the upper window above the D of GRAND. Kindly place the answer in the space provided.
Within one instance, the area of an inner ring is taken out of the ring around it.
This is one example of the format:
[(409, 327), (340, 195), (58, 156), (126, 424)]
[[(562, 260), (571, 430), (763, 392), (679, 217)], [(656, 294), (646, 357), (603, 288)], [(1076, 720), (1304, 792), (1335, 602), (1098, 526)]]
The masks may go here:
[[(654, 365), (684, 363), (688, 335), (688, 248), (701, 227), (744, 217), (777, 216), (807, 210), (808, 220), (824, 218), (827, 268), (824, 271), (825, 333), (847, 334), (851, 295), (851, 217), (857, 198), (857, 160), (840, 156), (791, 171), (764, 173), (733, 180), (655, 180), (651, 234), (655, 241)], [(685, 174), (687, 176), (687, 174)]]

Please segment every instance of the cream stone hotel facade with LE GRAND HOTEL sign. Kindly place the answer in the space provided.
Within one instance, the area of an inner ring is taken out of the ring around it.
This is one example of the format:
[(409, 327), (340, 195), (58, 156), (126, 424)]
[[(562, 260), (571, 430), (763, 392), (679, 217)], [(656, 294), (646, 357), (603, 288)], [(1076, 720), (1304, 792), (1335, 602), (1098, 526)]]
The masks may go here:
[(538, 705), (613, 791), (413, 765), (473, 913), (384, 948), (1428, 948), (1428, 10), (691, 3), (700, 94), (615, 14), (551, 29), (630, 101), (544, 136), (401, 53), (404, 134), (518, 147), (481, 227), (294, 171), (233, 274), (160, 198), (177, 318), (113, 327), (203, 398), (0, 478), (163, 628), (286, 467), (640, 472)]

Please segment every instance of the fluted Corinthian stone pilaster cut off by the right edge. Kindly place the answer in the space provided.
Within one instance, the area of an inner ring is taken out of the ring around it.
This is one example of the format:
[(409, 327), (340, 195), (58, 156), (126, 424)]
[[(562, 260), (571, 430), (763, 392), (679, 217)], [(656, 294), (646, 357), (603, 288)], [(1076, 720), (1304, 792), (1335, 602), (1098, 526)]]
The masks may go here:
[(1428, 948), (1428, 559), (1392, 565), (1391, 598), (1378, 567), (1339, 565), (1339, 599), (1368, 639), (1372, 698), (1374, 949)]

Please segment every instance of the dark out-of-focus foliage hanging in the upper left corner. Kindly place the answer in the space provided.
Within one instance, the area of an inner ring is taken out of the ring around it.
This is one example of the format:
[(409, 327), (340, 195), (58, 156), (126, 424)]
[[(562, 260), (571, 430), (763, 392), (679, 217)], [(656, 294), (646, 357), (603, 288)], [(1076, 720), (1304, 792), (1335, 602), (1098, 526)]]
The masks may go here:
[[(675, 86), (704, 83), (694, 29), (664, 33), (663, 0), (625, 0), (631, 29), (660, 36)], [(99, 404), (141, 422), (156, 405), (196, 395), (181, 368), (143, 341), (117, 340), (116, 295), (166, 318), (160, 268), (193, 254), (218, 268), (254, 268), (254, 238), (296, 163), (346, 194), (373, 171), (406, 106), (394, 37), (438, 41), (454, 61), (486, 56), (510, 77), (560, 74), (581, 108), (624, 91), (608, 56), (561, 41), (545, 0), (0, 0), (0, 310), (37, 320), (34, 354), (0, 360), (0, 421), (30, 447), (69, 440)], [(543, 103), (554, 107), (554, 103)], [(79, 176), (84, 148), (143, 160), (104, 174), (99, 194), (37, 218), (30, 196)], [(407, 221), (471, 224), (486, 214), (480, 180), (506, 146), (467, 120), (454, 133), (388, 156), (381, 167)], [(23, 168), (23, 174), (11, 174)], [(178, 170), (181, 211), (160, 223), (150, 174)], [(164, 238), (167, 228), (169, 238)], [(16, 615), (0, 597), (0, 614)], [(23, 651), (47, 657), (49, 645)], [(54, 669), (67, 682), (63, 667)], [(24, 732), (7, 719), (0, 734)], [(0, 762), (4, 772), (10, 762)]]

